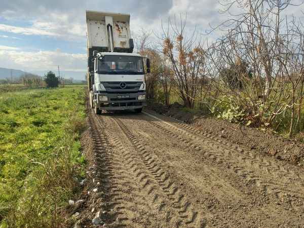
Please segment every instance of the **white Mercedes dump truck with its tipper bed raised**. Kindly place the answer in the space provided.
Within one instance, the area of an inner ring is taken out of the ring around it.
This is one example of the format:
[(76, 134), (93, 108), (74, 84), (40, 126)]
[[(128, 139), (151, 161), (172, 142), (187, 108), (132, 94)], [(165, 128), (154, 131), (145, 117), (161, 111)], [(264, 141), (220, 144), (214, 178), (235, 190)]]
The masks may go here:
[(86, 19), (90, 106), (96, 114), (102, 110), (141, 112), (150, 61), (133, 53), (130, 14), (86, 11)]

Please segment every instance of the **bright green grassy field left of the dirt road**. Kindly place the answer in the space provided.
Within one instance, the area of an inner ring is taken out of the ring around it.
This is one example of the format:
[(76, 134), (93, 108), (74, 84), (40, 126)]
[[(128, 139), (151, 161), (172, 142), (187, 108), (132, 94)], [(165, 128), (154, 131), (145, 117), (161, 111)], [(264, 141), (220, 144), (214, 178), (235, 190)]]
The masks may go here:
[(54, 227), (83, 173), (83, 85), (0, 93), (0, 227)]

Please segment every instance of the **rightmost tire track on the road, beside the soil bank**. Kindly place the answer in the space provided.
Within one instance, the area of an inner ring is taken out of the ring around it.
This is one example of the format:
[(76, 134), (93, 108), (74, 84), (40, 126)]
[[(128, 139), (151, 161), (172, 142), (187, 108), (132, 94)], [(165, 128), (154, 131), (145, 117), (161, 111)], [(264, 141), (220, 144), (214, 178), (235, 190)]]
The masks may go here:
[[(162, 130), (168, 135), (182, 141), (192, 149), (199, 151), (205, 159), (213, 160), (217, 164), (229, 164), (237, 175), (245, 177), (247, 181), (252, 181), (255, 186), (261, 189), (265, 194), (275, 196), (278, 201), (284, 199), (284, 201), (288, 202), (290, 208), (298, 209), (299, 205), (293, 207), (292, 202), (293, 200), (296, 200), (297, 197), (304, 198), (303, 185), (300, 183), (300, 186), (298, 186), (297, 189), (291, 189), (288, 187), (288, 184), (286, 184), (289, 180), (294, 179), (294, 176), (292, 176), (293, 173), (288, 171), (285, 172), (285, 169), (281, 168), (279, 165), (264, 161), (258, 156), (248, 151), (244, 151), (237, 146), (232, 148), (230, 145), (221, 143), (220, 140), (216, 140), (213, 136), (210, 136), (210, 139), (208, 137), (204, 138), (204, 141), (202, 142), (202, 135), (199, 135), (199, 131), (187, 125), (180, 124), (183, 128), (180, 129), (180, 127), (174, 126), (159, 118), (157, 118), (159, 122), (156, 122), (154, 116), (151, 116), (148, 113), (147, 115), (150, 116), (150, 118), (153, 118), (154, 121), (151, 121), (151, 119), (143, 115), (142, 118), (150, 126)], [(235, 150), (236, 153), (233, 150)], [(237, 158), (238, 161), (235, 161), (235, 158)], [(243, 166), (246, 168), (244, 169)], [(273, 170), (273, 168), (275, 168), (275, 170)], [(272, 178), (270, 178), (270, 176)]]

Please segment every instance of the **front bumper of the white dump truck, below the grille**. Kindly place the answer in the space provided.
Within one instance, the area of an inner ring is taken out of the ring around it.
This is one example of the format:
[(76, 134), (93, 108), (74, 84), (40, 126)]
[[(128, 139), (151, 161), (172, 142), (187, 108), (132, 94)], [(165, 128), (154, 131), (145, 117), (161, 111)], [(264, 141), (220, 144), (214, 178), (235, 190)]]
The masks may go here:
[[(142, 95), (146, 96), (146, 93), (97, 93), (94, 99), (94, 105), (102, 110), (126, 110), (142, 108), (146, 105), (145, 99), (138, 100), (138, 96)], [(107, 97), (108, 101), (100, 101), (99, 97)]]

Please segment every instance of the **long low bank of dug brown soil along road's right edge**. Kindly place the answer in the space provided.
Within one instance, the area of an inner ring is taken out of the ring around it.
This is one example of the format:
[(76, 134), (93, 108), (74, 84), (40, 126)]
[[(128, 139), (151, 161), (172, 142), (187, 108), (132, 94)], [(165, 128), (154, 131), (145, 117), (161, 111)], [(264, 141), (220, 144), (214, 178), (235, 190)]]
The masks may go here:
[(181, 105), (174, 103), (170, 108), (160, 104), (151, 104), (148, 108), (196, 126), (205, 133), (222, 140), (244, 146), (256, 153), (273, 156), (275, 159), (284, 160), (293, 165), (304, 166), (304, 143), (286, 139), (272, 132), (262, 132), (258, 129), (207, 117), (203, 112), (185, 112), (180, 107)]

